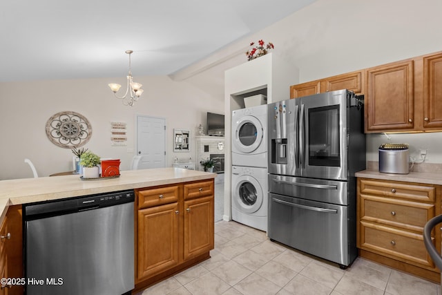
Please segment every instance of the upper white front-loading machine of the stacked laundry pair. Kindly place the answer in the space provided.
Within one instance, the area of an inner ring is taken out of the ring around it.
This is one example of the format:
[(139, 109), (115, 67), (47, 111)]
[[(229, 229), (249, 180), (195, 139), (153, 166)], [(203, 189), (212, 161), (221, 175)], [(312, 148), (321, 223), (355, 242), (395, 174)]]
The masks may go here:
[(232, 165), (267, 167), (267, 104), (232, 112)]

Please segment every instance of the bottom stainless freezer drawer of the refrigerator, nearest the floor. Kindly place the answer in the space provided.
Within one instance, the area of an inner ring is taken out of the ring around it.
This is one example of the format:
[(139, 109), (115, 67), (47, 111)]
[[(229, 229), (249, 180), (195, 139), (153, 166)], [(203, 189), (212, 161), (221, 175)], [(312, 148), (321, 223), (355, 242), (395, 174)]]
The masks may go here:
[(267, 234), (271, 240), (341, 267), (356, 258), (356, 236), (349, 231), (347, 206), (269, 193)]

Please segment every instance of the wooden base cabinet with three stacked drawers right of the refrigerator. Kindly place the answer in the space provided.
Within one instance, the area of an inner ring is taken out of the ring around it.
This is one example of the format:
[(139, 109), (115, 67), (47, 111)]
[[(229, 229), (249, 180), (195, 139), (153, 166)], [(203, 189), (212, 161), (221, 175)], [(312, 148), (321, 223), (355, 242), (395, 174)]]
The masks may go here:
[[(440, 281), (440, 271), (423, 243), (425, 223), (440, 213), (440, 187), (432, 184), (358, 178), (358, 231), (360, 255)], [(441, 233), (432, 240), (441, 251)]]

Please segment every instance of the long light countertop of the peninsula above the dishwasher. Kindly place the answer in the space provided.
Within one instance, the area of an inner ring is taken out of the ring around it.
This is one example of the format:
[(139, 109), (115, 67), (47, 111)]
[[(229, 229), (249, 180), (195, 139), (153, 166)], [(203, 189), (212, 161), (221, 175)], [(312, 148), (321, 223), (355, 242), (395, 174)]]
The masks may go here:
[(180, 169), (159, 168), (121, 171), (119, 178), (81, 180), (79, 175), (64, 175), (44, 178), (24, 178), (0, 181), (0, 222), (10, 205), (57, 200), (95, 193), (140, 189), (157, 185), (210, 180), (215, 173)]

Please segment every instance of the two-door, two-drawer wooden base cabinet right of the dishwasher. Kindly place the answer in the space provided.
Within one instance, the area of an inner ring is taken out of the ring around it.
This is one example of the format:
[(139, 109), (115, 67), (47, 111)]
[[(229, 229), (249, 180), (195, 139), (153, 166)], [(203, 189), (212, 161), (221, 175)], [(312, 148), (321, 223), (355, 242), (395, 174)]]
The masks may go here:
[(213, 180), (135, 190), (135, 290), (209, 258)]

